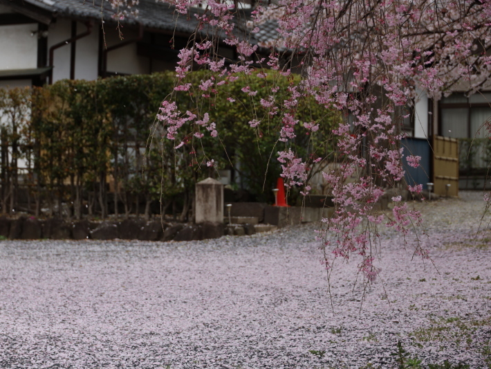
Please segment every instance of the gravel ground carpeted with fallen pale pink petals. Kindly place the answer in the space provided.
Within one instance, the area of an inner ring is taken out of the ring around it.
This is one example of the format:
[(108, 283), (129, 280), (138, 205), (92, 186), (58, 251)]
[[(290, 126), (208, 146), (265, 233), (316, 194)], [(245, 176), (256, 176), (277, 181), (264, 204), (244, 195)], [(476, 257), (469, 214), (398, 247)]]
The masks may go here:
[(398, 341), (423, 363), (488, 368), (481, 198), (415, 204), (435, 267), (386, 231), (381, 278), (354, 284), (357, 261), (337, 264), (332, 307), (314, 226), (202, 242), (0, 242), (0, 368), (396, 368)]

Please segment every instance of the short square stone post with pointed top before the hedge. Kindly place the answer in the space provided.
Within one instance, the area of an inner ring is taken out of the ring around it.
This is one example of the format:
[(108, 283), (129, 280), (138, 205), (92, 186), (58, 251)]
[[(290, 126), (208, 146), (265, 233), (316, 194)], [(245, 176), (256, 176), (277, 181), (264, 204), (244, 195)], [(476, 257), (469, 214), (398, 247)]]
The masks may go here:
[(207, 179), (196, 183), (194, 222), (223, 224), (223, 184), (216, 179)]

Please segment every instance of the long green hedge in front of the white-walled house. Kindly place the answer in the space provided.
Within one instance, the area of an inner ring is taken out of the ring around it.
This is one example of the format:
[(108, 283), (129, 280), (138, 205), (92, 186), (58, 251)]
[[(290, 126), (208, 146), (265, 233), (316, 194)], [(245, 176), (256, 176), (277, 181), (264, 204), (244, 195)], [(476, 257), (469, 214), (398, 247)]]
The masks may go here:
[[(151, 204), (160, 201), (163, 211), (172, 208), (184, 219), (194, 183), (217, 177), (216, 170), (225, 168), (241, 178), (232, 187), (246, 188), (257, 200), (272, 201), (270, 189), (281, 170), (275, 153), (284, 150), (285, 144), (278, 141), (280, 118), (269, 116), (259, 100), (268, 98), (275, 79), (280, 87), (275, 98), (282, 102), (288, 98), (288, 87), (299, 78), (268, 73), (267, 78), (241, 76), (213, 98), (203, 98), (198, 89), (199, 81), (210, 77), (207, 71), (189, 76), (191, 95), (174, 91), (171, 72), (0, 90), (3, 213), (19, 206), (19, 175), (24, 180), (21, 202), (26, 203), (27, 197), (27, 210), (36, 215), (47, 206), (52, 215), (68, 213), (77, 218), (84, 208), (102, 217), (109, 213), (148, 217)], [(246, 84), (259, 91), (257, 96), (241, 91)], [(156, 114), (170, 94), (181, 111), (209, 111), (219, 138), (205, 134), (198, 139), (196, 127), (183, 127), (176, 141), (167, 140)], [(237, 102), (231, 104), (228, 97)], [(332, 111), (305, 98), (292, 113), (299, 120), (320, 123), (315, 134), (299, 134), (290, 143), (293, 150), (311, 159), (333, 152), (328, 137), (337, 117)], [(251, 128), (248, 122), (255, 116), (264, 118), (263, 123)], [(174, 150), (180, 141), (186, 144)], [(205, 164), (210, 158), (215, 159), (215, 168)], [(19, 159), (27, 163), (26, 170), (17, 168)], [(145, 204), (145, 210), (140, 204)]]

